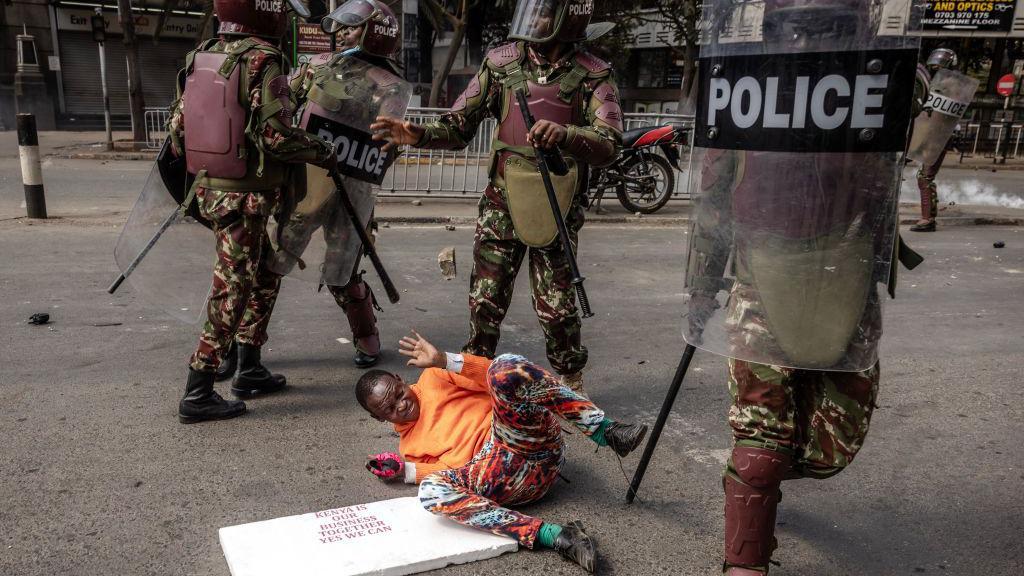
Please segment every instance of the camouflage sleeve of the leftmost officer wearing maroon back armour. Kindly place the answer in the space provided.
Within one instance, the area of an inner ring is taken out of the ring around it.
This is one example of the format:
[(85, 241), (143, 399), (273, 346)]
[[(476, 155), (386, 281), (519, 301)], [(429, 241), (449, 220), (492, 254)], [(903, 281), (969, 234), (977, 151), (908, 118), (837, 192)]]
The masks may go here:
[(250, 98), (253, 117), (249, 137), (253, 143), (260, 153), (282, 162), (325, 162), (332, 153), (331, 143), (292, 125), (295, 94), (281, 65), (268, 61), (261, 72)]

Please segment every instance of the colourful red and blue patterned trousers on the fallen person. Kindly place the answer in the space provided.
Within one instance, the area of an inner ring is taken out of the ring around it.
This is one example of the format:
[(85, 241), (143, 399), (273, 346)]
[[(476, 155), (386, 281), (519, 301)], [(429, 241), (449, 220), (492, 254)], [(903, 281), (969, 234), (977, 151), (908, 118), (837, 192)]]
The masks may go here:
[(428, 476), (420, 502), (459, 524), (515, 538), (532, 548), (543, 521), (508, 505), (541, 499), (562, 463), (561, 417), (590, 436), (604, 412), (521, 356), (502, 355), (487, 371), (490, 439), (461, 468)]

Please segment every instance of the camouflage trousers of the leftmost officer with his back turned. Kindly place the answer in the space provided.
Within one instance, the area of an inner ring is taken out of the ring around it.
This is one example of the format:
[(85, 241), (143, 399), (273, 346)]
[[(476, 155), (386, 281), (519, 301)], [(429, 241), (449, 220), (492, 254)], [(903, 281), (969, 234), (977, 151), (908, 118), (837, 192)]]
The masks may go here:
[(262, 346), (281, 288), (281, 276), (267, 266), (270, 238), (267, 219), (276, 212), (281, 193), (226, 192), (200, 188), (200, 212), (214, 223), (217, 262), (207, 300), (207, 321), (191, 356), (196, 370), (212, 371), (234, 339)]

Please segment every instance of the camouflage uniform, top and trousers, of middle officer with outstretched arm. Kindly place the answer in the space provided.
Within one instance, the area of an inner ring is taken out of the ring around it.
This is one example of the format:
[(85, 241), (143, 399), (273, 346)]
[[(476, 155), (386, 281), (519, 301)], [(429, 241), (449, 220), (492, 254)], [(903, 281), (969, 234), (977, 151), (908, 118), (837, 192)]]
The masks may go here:
[[(552, 121), (567, 127), (566, 140), (560, 145), (563, 153), (594, 166), (614, 160), (622, 142), (622, 115), (610, 67), (582, 49), (570, 51), (552, 65), (523, 42), (492, 50), (452, 110), (426, 125), (426, 132), (416, 146), (463, 149), (476, 134), (480, 122), (487, 117), (498, 119), (492, 147), (490, 183), (479, 202), (469, 290), (470, 336), (463, 351), (488, 358), (495, 356), (501, 324), (512, 301), (515, 278), (528, 253), (534, 310), (544, 330), (548, 360), (555, 372), (573, 374), (587, 364), (587, 348), (581, 342), (568, 263), (557, 243), (535, 248), (517, 238), (504, 186), (503, 159), (509, 155), (532, 155), (527, 147), (501, 140), (503, 126), (511, 124), (519, 114), (513, 92), (527, 83), (535, 90), (537, 86), (562, 86), (559, 96), (570, 105), (571, 119)], [(609, 115), (612, 105), (613, 112)], [(534, 110), (534, 114), (538, 120), (551, 119), (543, 110), (540, 113)], [(584, 223), (585, 193), (585, 190), (577, 193), (565, 218), (573, 247)]]

